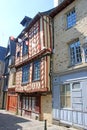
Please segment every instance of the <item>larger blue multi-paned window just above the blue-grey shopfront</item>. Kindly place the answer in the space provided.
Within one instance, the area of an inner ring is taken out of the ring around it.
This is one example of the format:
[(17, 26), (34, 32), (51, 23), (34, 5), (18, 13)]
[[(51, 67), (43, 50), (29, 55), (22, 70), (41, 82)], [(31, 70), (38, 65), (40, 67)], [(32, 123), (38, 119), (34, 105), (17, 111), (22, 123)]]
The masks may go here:
[(82, 62), (81, 48), (79, 41), (75, 41), (72, 44), (70, 44), (70, 59), (72, 65)]

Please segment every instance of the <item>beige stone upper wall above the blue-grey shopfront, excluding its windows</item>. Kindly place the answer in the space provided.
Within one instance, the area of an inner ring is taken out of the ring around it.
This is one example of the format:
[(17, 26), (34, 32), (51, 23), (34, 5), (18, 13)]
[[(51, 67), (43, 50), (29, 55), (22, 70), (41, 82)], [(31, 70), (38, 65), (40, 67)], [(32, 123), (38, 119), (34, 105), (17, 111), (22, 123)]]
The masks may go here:
[[(87, 38), (87, 0), (76, 0), (54, 17), (54, 55), (53, 71), (60, 73), (86, 66), (83, 44)], [(76, 25), (66, 28), (66, 13), (75, 7)], [(69, 44), (79, 38), (82, 64), (70, 66)]]

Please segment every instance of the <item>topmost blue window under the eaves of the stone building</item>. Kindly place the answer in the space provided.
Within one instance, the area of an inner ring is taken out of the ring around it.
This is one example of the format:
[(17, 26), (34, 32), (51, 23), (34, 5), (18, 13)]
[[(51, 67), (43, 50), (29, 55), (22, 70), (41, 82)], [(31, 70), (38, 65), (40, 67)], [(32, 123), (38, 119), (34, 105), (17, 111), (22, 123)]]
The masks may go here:
[(76, 24), (76, 12), (75, 8), (67, 13), (67, 28), (72, 27)]

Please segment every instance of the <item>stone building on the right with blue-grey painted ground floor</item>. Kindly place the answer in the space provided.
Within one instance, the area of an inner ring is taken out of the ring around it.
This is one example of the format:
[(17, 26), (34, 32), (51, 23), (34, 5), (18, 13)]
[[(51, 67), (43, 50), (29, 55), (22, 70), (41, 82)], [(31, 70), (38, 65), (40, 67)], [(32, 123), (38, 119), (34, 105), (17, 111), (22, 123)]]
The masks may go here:
[(53, 18), (53, 121), (87, 129), (87, 0), (64, 0)]

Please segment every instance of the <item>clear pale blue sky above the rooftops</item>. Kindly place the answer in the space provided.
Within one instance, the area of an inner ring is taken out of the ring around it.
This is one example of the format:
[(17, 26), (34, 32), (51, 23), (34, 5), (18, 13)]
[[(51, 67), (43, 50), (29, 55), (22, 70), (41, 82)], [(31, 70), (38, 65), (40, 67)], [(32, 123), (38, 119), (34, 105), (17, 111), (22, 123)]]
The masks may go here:
[(10, 36), (15, 38), (23, 30), (20, 24), (25, 16), (33, 18), (38, 12), (53, 8), (54, 0), (1, 0), (0, 46), (7, 47)]

